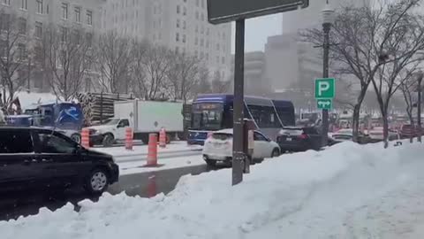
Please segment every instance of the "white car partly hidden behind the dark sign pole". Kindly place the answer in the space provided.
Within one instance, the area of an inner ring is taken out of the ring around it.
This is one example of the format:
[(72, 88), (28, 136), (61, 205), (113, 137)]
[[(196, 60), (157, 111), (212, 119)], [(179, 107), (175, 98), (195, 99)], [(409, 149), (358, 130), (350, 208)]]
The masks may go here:
[[(232, 129), (214, 132), (205, 141), (203, 158), (208, 166), (216, 166), (216, 162), (231, 162)], [(258, 131), (254, 131), (254, 161), (263, 158), (274, 158), (280, 155), (280, 147)]]

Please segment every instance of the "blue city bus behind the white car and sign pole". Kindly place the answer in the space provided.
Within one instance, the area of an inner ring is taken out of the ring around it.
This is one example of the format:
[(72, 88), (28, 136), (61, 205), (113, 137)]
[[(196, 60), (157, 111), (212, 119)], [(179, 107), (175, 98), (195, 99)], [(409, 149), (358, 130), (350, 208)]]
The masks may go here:
[[(232, 128), (233, 102), (233, 95), (198, 96), (192, 104), (187, 143), (203, 145), (209, 132)], [(284, 125), (294, 125), (295, 121), (293, 104), (287, 101), (245, 96), (244, 112), (246, 119), (253, 120), (255, 127), (273, 140)]]

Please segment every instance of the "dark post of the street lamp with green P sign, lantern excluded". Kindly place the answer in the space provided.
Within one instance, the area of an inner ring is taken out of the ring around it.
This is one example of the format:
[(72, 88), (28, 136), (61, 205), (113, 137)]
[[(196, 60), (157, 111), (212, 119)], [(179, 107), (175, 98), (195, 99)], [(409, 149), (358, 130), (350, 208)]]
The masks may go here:
[[(323, 43), (323, 69), (322, 78), (329, 78), (329, 29), (331, 23), (322, 24), (324, 31), (324, 43)], [(322, 146), (325, 147), (329, 140), (329, 110), (322, 110)]]

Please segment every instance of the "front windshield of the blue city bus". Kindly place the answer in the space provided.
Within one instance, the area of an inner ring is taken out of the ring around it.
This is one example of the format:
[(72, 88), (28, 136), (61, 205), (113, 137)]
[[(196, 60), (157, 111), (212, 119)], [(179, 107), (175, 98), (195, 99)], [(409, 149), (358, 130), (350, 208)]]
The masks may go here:
[(191, 129), (218, 130), (223, 126), (223, 104), (193, 104)]

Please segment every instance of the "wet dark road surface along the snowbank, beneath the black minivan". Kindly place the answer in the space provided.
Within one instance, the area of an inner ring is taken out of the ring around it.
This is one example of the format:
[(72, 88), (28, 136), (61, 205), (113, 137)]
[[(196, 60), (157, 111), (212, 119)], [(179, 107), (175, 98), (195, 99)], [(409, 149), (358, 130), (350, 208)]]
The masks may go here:
[[(179, 178), (186, 174), (208, 172), (208, 166), (190, 166), (185, 168), (163, 170), (152, 173), (137, 173), (124, 175), (119, 182), (110, 186), (110, 194), (125, 192), (128, 196), (153, 197), (158, 193), (169, 193), (175, 188)], [(19, 216), (33, 215), (42, 207), (56, 210), (68, 202), (76, 205), (83, 199), (98, 200), (98, 197), (88, 197), (79, 189), (65, 192), (23, 192), (0, 196), (0, 220), (17, 219)], [(77, 207), (78, 209), (78, 207)]]

